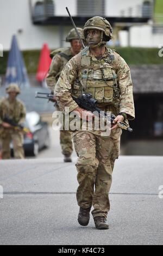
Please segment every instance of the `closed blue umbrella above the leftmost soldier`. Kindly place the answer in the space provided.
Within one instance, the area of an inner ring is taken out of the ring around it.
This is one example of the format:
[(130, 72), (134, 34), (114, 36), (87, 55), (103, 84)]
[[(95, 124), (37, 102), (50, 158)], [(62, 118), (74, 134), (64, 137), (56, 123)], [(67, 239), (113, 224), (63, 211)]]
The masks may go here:
[(20, 87), (30, 87), (27, 70), (23, 56), (18, 48), (16, 36), (12, 36), (11, 50), (9, 52), (5, 83), (17, 83)]

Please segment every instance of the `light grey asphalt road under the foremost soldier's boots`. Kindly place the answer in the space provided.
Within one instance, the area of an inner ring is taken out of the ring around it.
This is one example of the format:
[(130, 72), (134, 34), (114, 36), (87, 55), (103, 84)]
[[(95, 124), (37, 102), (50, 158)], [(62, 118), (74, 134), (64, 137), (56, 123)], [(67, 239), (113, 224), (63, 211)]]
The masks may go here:
[[(59, 147), (59, 146), (58, 146)], [(109, 230), (77, 222), (76, 168), (61, 157), (1, 161), (1, 245), (162, 245), (163, 157), (121, 156), (110, 193)]]

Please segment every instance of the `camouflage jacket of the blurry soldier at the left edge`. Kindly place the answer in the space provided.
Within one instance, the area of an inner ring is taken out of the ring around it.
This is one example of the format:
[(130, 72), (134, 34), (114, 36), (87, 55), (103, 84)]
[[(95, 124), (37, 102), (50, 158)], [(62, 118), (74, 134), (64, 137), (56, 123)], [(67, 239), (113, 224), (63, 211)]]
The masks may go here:
[(5, 117), (9, 117), (16, 124), (24, 123), (26, 118), (26, 108), (24, 104), (18, 99), (13, 103), (10, 103), (7, 97), (2, 99), (0, 102), (0, 125), (3, 123)]

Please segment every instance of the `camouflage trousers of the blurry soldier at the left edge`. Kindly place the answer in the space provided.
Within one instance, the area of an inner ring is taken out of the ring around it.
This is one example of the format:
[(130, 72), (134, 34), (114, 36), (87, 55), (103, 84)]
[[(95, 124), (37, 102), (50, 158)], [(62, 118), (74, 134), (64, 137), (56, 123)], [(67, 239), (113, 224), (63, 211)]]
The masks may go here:
[(23, 133), (12, 129), (3, 132), (1, 138), (2, 143), (2, 159), (10, 159), (10, 143), (12, 141), (14, 147), (15, 159), (24, 159), (23, 149)]

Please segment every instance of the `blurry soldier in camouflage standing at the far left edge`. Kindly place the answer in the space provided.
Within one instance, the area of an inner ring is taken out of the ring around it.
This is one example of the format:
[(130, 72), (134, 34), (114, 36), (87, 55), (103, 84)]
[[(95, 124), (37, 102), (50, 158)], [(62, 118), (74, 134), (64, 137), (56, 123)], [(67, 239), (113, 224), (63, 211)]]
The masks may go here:
[(0, 102), (0, 137), (2, 142), (2, 159), (10, 159), (10, 143), (14, 147), (14, 156), (16, 159), (24, 159), (23, 149), (23, 131), (16, 129), (9, 123), (3, 121), (6, 117), (14, 123), (21, 125), (26, 118), (26, 108), (24, 104), (16, 97), (21, 93), (17, 84), (10, 84), (6, 89), (9, 94)]

